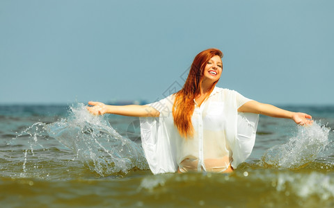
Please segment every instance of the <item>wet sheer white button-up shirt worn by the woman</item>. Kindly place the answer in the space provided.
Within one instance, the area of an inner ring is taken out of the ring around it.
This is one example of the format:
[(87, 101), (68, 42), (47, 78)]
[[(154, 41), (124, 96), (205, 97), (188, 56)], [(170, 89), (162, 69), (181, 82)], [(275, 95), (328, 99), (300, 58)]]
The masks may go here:
[(237, 112), (248, 101), (238, 92), (215, 87), (202, 105), (194, 101), (191, 122), (195, 132), (187, 139), (173, 122), (173, 95), (149, 104), (160, 112), (159, 118), (141, 118), (142, 145), (151, 171), (175, 172), (189, 164), (197, 171), (237, 168), (255, 142), (258, 115)]

